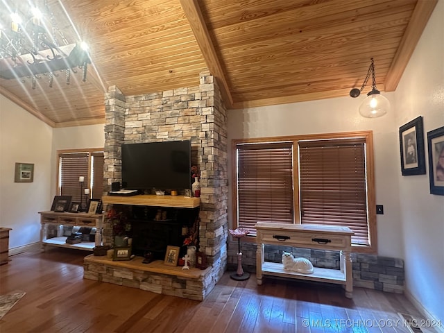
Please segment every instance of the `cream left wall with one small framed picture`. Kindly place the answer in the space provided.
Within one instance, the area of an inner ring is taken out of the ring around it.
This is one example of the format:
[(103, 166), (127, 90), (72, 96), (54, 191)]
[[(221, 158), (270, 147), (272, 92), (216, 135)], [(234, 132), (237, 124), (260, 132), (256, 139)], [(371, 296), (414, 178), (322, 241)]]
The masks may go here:
[[(53, 130), (0, 95), (0, 225), (12, 228), (9, 246), (40, 239), (40, 215), (52, 202)], [(15, 163), (33, 163), (33, 182), (14, 182)]]

